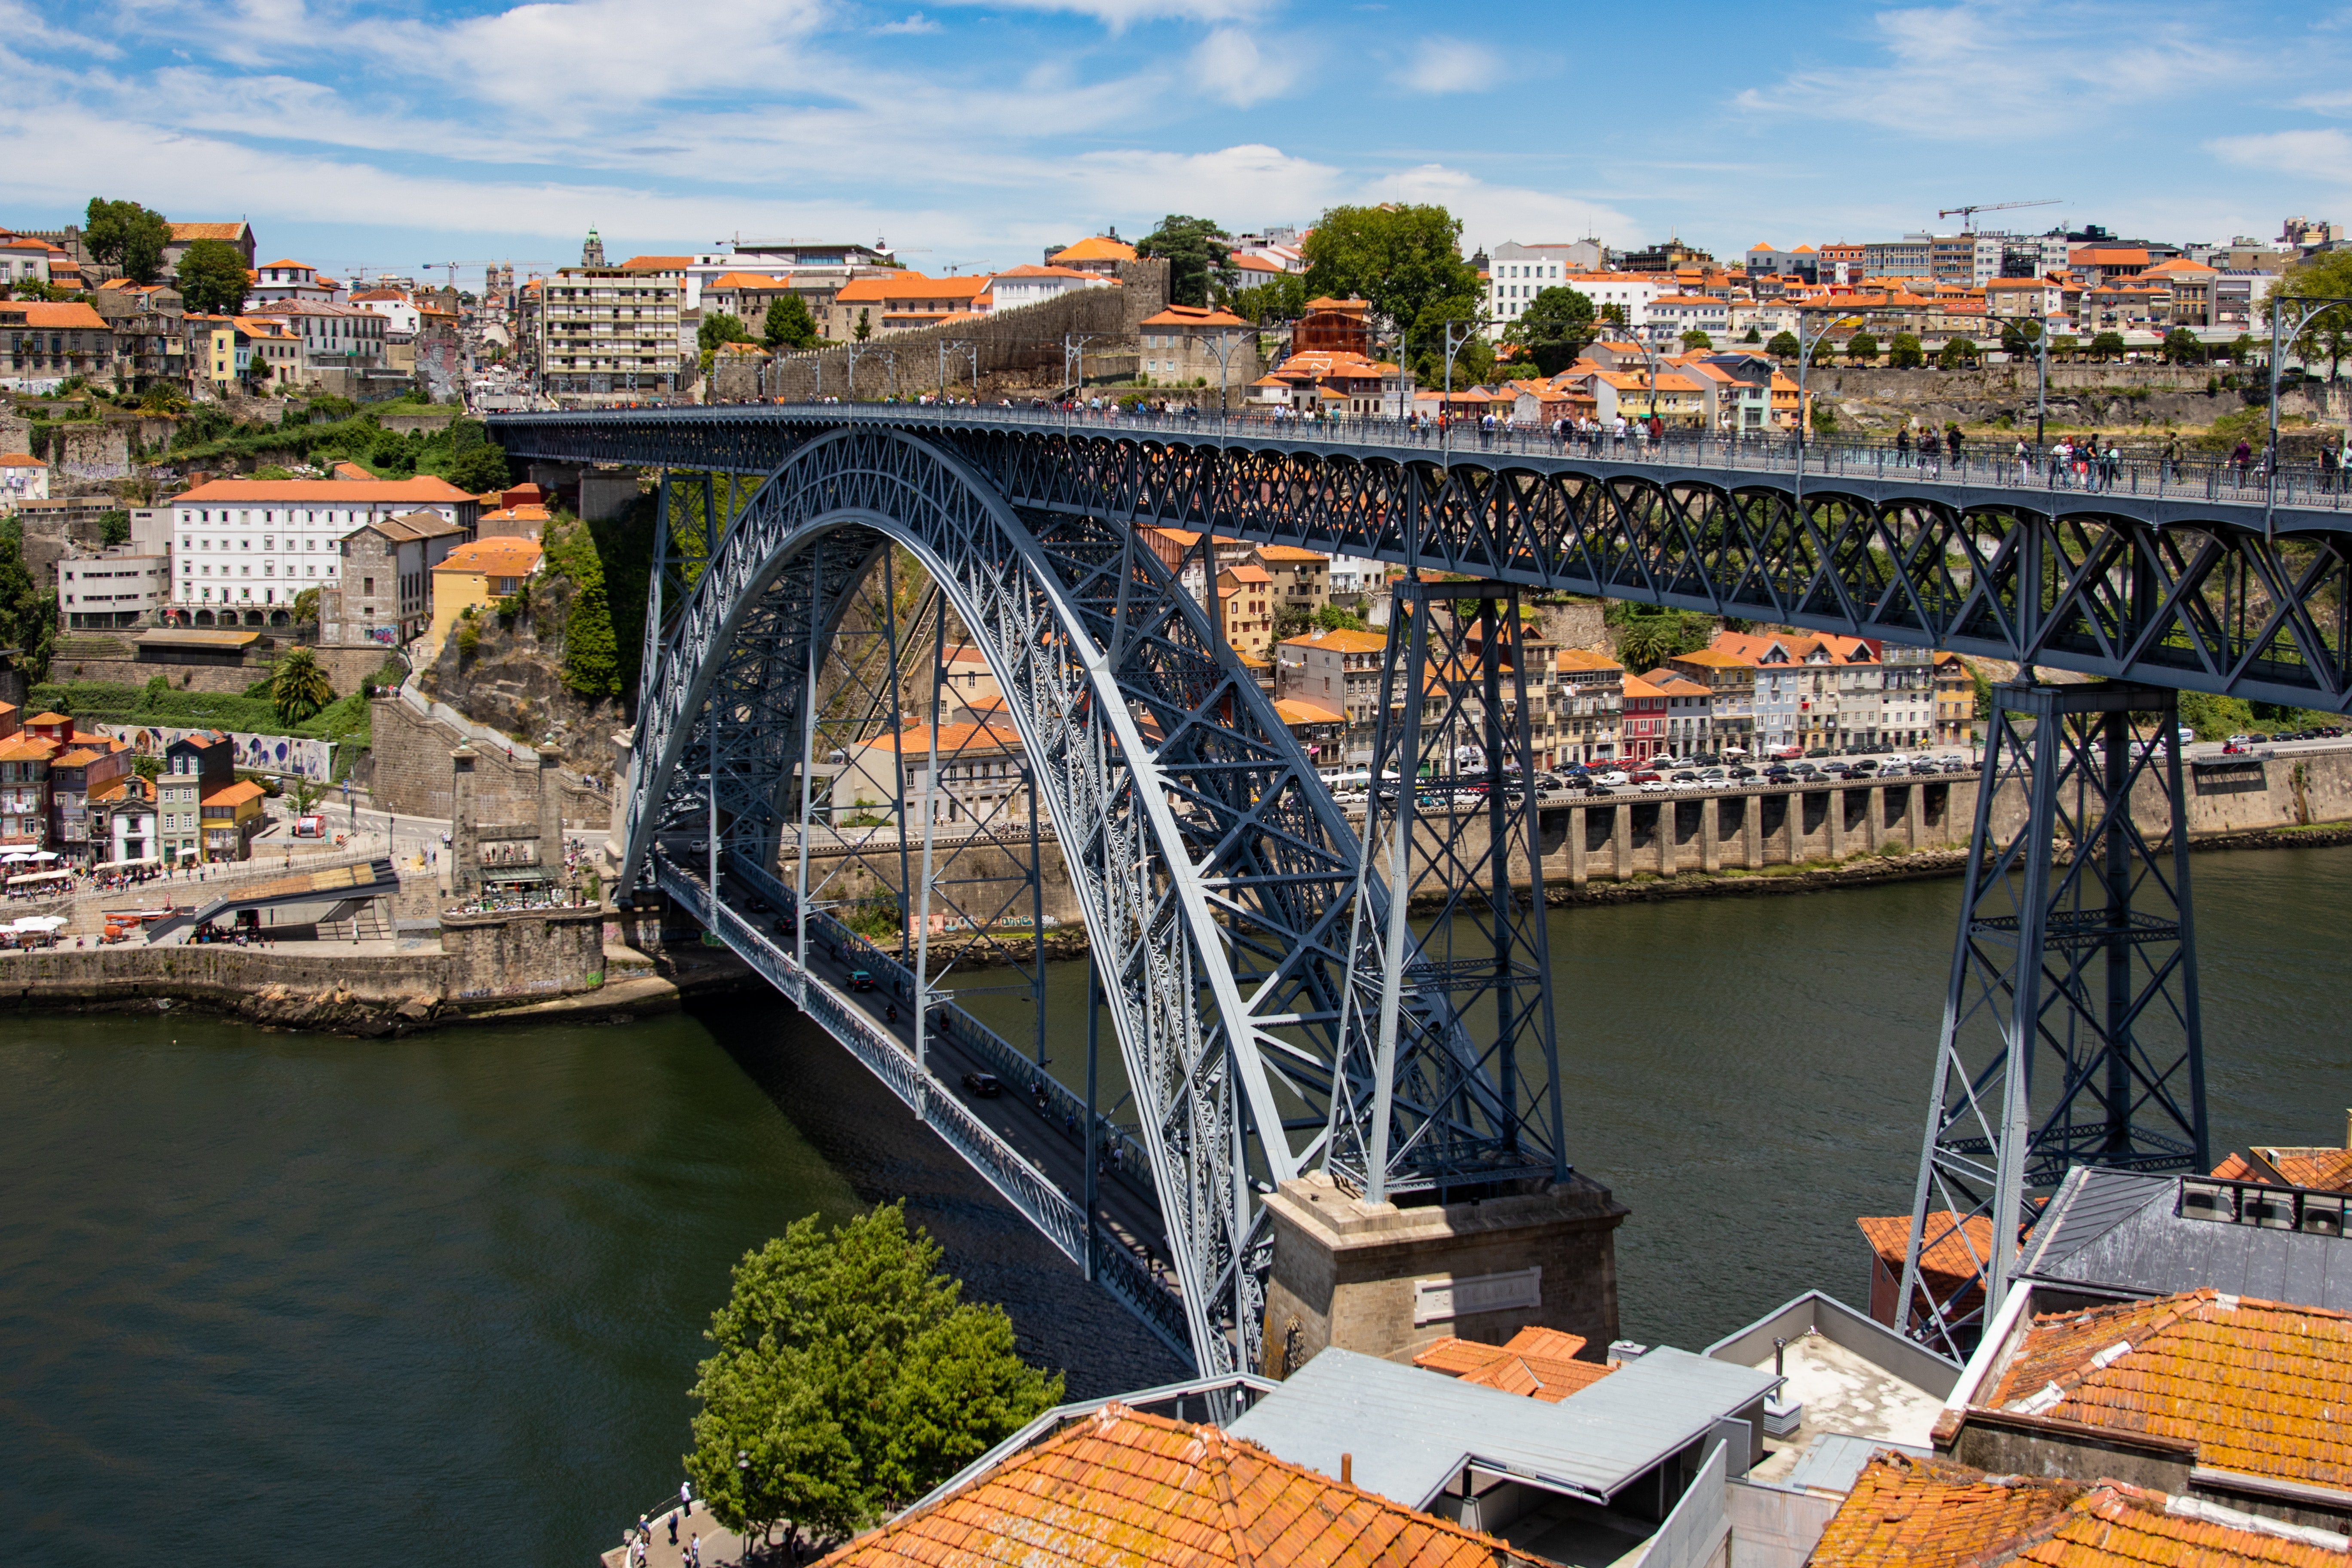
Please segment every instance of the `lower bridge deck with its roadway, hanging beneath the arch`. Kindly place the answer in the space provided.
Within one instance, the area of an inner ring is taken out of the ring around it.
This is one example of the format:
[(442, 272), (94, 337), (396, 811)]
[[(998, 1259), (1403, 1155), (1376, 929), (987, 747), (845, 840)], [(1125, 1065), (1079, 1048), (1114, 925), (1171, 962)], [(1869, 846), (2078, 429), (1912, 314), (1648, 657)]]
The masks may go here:
[[(793, 889), (729, 856), (713, 910), (708, 870), (652, 856), (654, 879), (680, 910), (849, 1048), (915, 1117), (1035, 1225), (1073, 1265), (1192, 1359), (1183, 1302), (1141, 1140), (1094, 1117), (1094, 1213), (1087, 1213), (1087, 1105), (1044, 1067), (934, 990), (922, 1056), (915, 1053), (915, 973), (821, 910), (809, 912), (809, 964), (795, 959)], [(873, 990), (851, 990), (866, 971)], [(896, 1018), (891, 1016), (896, 1013)], [(1117, 1048), (1115, 1044), (1110, 1048)], [(993, 1074), (1004, 1093), (981, 1098), (964, 1074)]]

